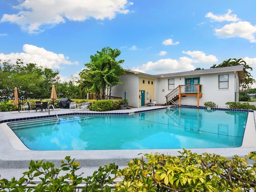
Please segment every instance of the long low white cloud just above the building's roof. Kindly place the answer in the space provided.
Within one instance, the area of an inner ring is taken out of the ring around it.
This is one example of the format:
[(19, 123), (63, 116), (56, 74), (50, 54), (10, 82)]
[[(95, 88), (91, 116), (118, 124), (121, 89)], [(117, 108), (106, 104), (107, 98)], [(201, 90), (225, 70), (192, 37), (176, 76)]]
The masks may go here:
[(180, 57), (179, 60), (174, 60), (171, 58), (160, 59), (156, 62), (147, 62), (142, 66), (134, 67), (132, 70), (146, 73), (147, 71), (154, 71), (154, 74), (164, 74), (166, 72), (181, 72), (181, 71), (190, 71), (194, 70), (195, 66), (193, 63), (212, 63), (217, 62), (218, 59), (209, 55), (206, 56), (204, 52), (201, 51), (187, 51), (182, 52), (184, 54), (188, 54), (192, 58), (188, 58), (186, 56)]

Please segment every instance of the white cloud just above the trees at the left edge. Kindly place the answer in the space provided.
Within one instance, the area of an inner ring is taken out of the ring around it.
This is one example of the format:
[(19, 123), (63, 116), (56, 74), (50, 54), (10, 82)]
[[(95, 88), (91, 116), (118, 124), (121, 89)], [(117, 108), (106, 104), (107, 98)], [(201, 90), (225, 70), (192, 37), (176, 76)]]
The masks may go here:
[(0, 53), (0, 58), (2, 60), (11, 60), (15, 62), (17, 59), (22, 59), (26, 63), (36, 63), (38, 66), (59, 69), (62, 68), (62, 64), (72, 65), (78, 64), (78, 62), (71, 62), (68, 57), (63, 54), (56, 54), (51, 51), (47, 51), (44, 48), (40, 48), (34, 45), (24, 44), (23, 51), (21, 53), (10, 53), (3, 54)]

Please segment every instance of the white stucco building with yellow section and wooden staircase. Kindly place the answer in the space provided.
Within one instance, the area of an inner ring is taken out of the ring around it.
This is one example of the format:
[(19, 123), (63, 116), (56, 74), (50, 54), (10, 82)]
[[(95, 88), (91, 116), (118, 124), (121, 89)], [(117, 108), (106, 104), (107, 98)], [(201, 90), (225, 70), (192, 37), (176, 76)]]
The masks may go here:
[(120, 76), (124, 85), (112, 88), (112, 96), (128, 99), (128, 106), (140, 107), (157, 99), (158, 104), (204, 106), (214, 102), (226, 108), (226, 102), (238, 102), (239, 80), (244, 78), (244, 66), (211, 68), (187, 72), (150, 75), (125, 70)]

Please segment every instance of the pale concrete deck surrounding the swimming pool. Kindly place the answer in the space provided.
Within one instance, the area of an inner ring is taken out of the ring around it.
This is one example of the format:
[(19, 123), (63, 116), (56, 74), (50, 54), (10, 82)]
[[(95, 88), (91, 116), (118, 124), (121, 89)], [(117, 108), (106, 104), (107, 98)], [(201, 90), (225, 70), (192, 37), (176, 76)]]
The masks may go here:
[[(166, 108), (165, 106), (153, 106), (153, 107), (141, 107), (132, 108), (126, 110), (115, 110), (114, 113), (132, 114), (138, 111), (144, 110), (157, 110)], [(58, 115), (73, 113), (73, 110), (69, 109), (56, 109)], [(4, 115), (2, 120), (10, 119), (24, 119), (31, 117), (47, 116), (49, 112), (0, 112)], [(88, 113), (98, 113), (88, 111)], [(109, 112), (102, 112), (109, 113)], [(50, 115), (54, 115), (54, 111), (50, 110)], [(202, 148), (202, 149), (189, 149), (192, 152), (201, 154), (202, 152), (215, 153), (226, 157), (234, 155), (244, 156), (251, 151), (256, 150), (256, 130), (255, 130), (255, 114), (256, 112), (250, 112), (248, 115), (248, 122), (246, 124), (246, 131), (244, 134), (244, 141), (241, 147), (238, 148)], [(9, 139), (8, 139), (9, 138)], [(12, 140), (10, 142), (9, 140)], [(7, 124), (0, 124), (0, 179), (11, 179), (12, 177), (20, 178), (23, 172), (28, 170), (30, 160), (46, 160), (53, 162), (57, 167), (60, 166), (60, 160), (66, 156), (75, 158), (80, 162), (81, 169), (77, 174), (84, 172), (83, 177), (92, 175), (95, 170), (98, 170), (100, 166), (108, 165), (115, 162), (119, 168), (126, 167), (128, 161), (133, 158), (141, 158), (143, 154), (154, 154), (156, 152), (160, 154), (178, 155), (178, 151), (182, 149), (157, 149), (157, 150), (76, 150), (76, 151), (35, 151), (28, 150), (17, 136), (10, 131)], [(139, 155), (140, 154), (140, 155)]]

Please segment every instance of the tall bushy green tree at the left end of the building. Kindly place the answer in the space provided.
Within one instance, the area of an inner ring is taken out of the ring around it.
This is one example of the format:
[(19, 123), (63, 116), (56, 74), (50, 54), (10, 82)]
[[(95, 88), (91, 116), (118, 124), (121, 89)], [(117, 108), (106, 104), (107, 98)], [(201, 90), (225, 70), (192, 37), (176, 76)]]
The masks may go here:
[(83, 74), (87, 75), (85, 79), (90, 79), (92, 82), (90, 91), (101, 94), (102, 99), (105, 99), (107, 88), (111, 90), (112, 86), (122, 83), (119, 81), (119, 76), (124, 74), (124, 69), (120, 64), (124, 60), (116, 61), (120, 54), (118, 49), (105, 47), (101, 52), (97, 51), (97, 54), (91, 55), (90, 62), (85, 64), (87, 69)]

